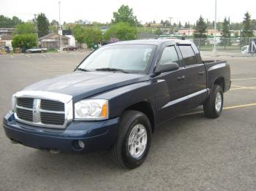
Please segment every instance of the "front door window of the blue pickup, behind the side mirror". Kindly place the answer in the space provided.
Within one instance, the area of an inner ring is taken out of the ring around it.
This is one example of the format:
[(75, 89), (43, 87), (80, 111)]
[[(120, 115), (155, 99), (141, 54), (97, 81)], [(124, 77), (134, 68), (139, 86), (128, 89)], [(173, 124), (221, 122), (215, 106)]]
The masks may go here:
[(165, 64), (167, 62), (179, 64), (178, 54), (174, 46), (165, 47), (164, 51), (162, 52), (162, 57), (159, 64)]

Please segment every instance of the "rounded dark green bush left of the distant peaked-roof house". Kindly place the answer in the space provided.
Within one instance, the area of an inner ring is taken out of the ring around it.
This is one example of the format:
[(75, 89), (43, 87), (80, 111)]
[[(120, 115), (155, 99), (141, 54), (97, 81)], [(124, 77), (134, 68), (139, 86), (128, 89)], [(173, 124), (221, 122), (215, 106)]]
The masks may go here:
[(18, 34), (12, 38), (12, 47), (29, 49), (37, 46), (37, 36), (35, 34)]

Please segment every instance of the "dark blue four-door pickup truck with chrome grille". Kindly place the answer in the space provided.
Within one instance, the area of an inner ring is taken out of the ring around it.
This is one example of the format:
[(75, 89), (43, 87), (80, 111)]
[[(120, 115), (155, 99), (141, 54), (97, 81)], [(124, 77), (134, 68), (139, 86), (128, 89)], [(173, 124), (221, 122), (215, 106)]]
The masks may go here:
[(192, 42), (117, 42), (71, 74), (15, 93), (4, 131), (12, 143), (52, 152), (108, 150), (116, 164), (136, 168), (159, 124), (200, 105), (219, 117), (229, 89), (230, 66), (202, 61)]

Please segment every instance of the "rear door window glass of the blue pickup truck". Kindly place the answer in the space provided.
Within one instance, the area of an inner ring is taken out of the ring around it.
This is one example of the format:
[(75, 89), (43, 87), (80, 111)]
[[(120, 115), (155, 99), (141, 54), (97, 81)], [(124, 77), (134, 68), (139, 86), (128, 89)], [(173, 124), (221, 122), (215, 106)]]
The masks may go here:
[(197, 64), (197, 58), (195, 57), (195, 52), (192, 50), (191, 46), (180, 45), (178, 47), (181, 50), (184, 64), (186, 66)]

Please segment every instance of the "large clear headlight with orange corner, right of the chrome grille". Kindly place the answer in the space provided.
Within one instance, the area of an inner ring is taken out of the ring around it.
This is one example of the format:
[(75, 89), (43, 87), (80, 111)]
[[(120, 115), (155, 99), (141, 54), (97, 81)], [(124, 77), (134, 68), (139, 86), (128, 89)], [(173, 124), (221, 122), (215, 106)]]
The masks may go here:
[(85, 99), (75, 103), (75, 120), (108, 119), (108, 100)]

